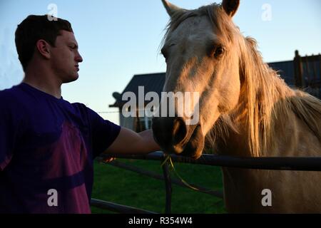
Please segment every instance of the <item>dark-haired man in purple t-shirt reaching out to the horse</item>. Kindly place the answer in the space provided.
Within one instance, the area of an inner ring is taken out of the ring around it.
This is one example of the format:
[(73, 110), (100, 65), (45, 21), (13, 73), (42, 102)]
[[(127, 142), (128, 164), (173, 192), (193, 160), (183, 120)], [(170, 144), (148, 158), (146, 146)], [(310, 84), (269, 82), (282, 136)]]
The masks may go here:
[(96, 156), (160, 147), (150, 130), (134, 133), (63, 100), (61, 85), (77, 80), (83, 61), (68, 21), (28, 16), (16, 48), (25, 77), (0, 91), (0, 212), (90, 213)]

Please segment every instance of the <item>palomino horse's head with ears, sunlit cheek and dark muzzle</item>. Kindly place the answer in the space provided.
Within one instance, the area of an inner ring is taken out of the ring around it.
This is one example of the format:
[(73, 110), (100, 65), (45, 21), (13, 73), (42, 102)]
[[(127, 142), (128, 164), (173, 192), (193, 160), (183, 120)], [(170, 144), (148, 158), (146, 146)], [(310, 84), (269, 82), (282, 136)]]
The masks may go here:
[[(198, 158), (216, 120), (238, 105), (242, 79), (235, 34), (239, 31), (232, 17), (239, 1), (223, 0), (221, 5), (191, 11), (162, 1), (170, 15), (161, 50), (167, 63), (163, 90), (198, 92), (199, 120), (188, 125), (182, 116), (153, 118), (154, 138), (165, 152)], [(177, 105), (174, 108), (177, 114)]]

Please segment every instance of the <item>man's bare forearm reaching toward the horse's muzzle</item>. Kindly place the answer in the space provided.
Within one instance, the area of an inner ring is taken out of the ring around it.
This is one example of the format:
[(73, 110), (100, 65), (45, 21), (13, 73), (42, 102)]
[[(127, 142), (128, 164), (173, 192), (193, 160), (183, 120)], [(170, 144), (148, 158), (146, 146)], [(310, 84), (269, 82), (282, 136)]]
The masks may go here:
[(136, 133), (128, 128), (121, 128), (116, 140), (108, 147), (105, 153), (138, 155), (157, 150), (161, 150), (161, 147), (155, 142), (152, 130)]

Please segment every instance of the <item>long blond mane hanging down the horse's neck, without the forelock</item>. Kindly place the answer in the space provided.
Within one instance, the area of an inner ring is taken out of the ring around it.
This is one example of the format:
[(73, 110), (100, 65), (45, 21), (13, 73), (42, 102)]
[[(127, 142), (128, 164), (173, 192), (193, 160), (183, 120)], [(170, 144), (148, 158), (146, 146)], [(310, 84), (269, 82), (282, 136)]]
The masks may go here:
[[(248, 140), (252, 155), (258, 157), (267, 150), (274, 150), (280, 129), (277, 123), (287, 122), (291, 113), (302, 120), (321, 141), (321, 102), (300, 90), (293, 90), (282, 78), (263, 63), (253, 38), (240, 42), (240, 104), (233, 112), (234, 120), (245, 113), (248, 123)], [(243, 50), (242, 50), (243, 49)], [(224, 118), (223, 118), (224, 119)], [(244, 121), (244, 119), (243, 119)], [(235, 125), (236, 121), (233, 121)], [(282, 135), (286, 135), (284, 132)]]

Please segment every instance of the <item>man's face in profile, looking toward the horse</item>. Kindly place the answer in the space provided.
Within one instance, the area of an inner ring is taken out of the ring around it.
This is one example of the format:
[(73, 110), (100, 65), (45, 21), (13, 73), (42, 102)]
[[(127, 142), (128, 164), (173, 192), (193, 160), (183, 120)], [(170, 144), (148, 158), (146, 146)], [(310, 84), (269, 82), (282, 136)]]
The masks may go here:
[(51, 47), (51, 67), (61, 83), (78, 79), (79, 63), (82, 61), (75, 36), (62, 30), (61, 36), (56, 38), (56, 47)]

